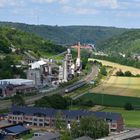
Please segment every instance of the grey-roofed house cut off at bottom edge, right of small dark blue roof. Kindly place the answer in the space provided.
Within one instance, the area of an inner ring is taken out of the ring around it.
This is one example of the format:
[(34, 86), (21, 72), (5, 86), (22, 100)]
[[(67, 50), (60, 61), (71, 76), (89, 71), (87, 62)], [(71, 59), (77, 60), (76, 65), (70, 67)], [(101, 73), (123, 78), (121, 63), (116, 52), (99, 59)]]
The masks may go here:
[(34, 137), (31, 140), (60, 140), (59, 133), (52, 132), (36, 132), (34, 133)]

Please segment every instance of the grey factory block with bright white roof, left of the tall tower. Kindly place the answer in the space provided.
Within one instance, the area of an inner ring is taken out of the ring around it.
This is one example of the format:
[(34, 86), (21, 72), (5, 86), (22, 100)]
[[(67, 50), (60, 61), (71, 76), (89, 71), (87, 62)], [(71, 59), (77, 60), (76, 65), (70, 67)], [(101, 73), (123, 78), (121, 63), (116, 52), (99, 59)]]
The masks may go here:
[(52, 61), (40, 60), (29, 64), (27, 78), (34, 81), (37, 88), (44, 86), (52, 86), (52, 82), (56, 76), (52, 74)]

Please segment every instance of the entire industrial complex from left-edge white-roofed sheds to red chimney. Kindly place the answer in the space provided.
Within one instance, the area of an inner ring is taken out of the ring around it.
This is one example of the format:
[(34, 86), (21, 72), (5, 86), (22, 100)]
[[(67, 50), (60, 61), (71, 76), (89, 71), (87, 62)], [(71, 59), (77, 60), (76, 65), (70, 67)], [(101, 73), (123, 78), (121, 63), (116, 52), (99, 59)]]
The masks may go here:
[[(74, 61), (71, 49), (68, 48), (64, 59), (61, 61), (61, 65), (58, 65), (53, 59), (40, 58), (40, 60), (32, 59), (32, 61), (26, 61), (28, 63), (28, 68), (26, 70), (27, 79), (22, 79), (22, 81), (30, 80), (32, 81), (32, 84), (28, 85), (22, 83), (19, 85), (20, 79), (3, 79), (0, 82), (0, 97), (4, 98), (14, 96), (16, 92), (28, 93), (35, 91), (35, 89), (38, 90), (58, 87), (59, 84), (68, 82), (75, 76), (80, 75), (82, 70), (82, 63), (80, 58), (80, 42), (75, 46), (75, 48), (77, 49), (76, 60)], [(28, 58), (30, 58), (29, 55), (27, 59)], [(12, 90), (9, 88), (12, 88)]]

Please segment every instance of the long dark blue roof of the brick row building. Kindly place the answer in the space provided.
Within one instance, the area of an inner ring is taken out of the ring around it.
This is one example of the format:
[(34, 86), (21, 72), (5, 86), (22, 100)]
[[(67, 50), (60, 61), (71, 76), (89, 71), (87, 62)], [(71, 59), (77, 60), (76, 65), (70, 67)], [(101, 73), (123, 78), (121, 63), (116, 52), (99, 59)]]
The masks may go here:
[(94, 112), (94, 111), (87, 111), (87, 110), (56, 110), (53, 108), (40, 108), (40, 107), (19, 107), (19, 106), (12, 106), (11, 113), (20, 112), (26, 115), (34, 115), (37, 113), (44, 114), (49, 117), (55, 117), (58, 112), (61, 112), (64, 117), (67, 118), (76, 118), (79, 116), (95, 116), (101, 119), (110, 119), (116, 121), (120, 119), (120, 113), (111, 113), (111, 112)]

